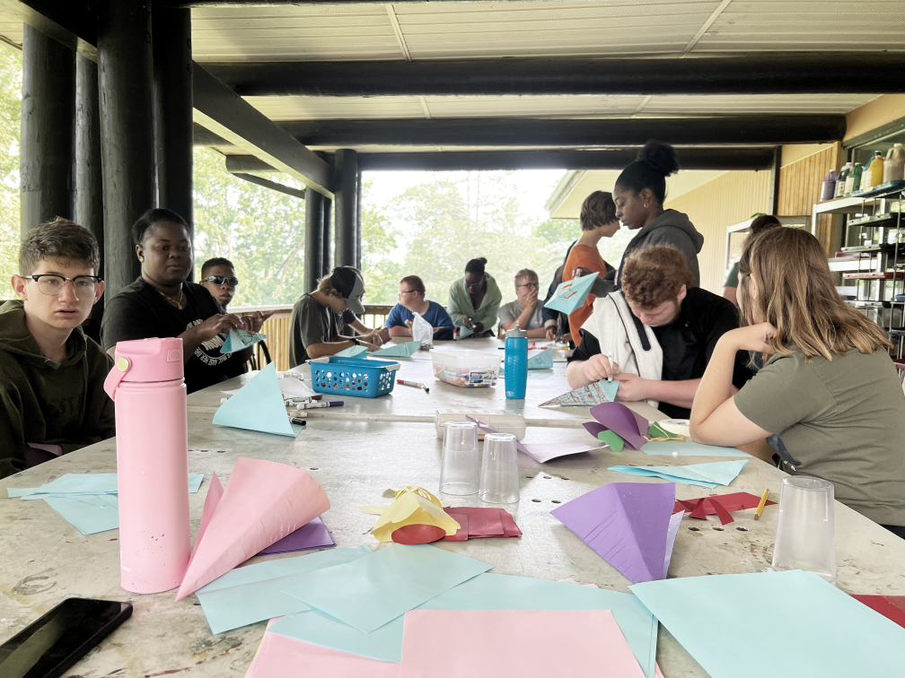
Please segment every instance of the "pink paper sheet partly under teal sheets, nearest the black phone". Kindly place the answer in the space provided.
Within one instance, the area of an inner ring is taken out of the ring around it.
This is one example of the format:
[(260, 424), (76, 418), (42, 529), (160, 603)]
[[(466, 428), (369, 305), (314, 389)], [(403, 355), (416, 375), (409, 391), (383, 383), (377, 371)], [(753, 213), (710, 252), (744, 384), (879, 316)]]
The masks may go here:
[(399, 678), (399, 664), (339, 652), (287, 636), (265, 633), (245, 678), (284, 676)]

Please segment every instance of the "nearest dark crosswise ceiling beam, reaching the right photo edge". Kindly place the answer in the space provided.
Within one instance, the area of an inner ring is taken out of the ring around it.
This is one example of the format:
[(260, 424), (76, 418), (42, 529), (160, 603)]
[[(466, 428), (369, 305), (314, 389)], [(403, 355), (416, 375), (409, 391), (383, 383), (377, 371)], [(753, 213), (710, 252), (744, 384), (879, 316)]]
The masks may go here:
[(206, 63), (243, 96), (883, 94), (905, 92), (905, 52), (685, 59)]

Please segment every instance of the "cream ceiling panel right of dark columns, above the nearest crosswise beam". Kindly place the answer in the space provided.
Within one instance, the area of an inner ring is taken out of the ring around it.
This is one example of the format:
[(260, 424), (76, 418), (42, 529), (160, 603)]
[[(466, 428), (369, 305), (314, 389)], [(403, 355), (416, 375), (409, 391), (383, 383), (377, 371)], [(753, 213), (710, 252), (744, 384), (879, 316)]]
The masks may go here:
[(384, 5), (192, 10), (195, 61), (398, 59)]

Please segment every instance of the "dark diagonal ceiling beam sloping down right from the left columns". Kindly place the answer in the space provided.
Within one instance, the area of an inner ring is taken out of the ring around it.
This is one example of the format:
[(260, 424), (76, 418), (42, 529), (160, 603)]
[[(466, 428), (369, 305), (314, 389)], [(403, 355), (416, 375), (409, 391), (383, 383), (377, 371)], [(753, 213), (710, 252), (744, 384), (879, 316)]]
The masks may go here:
[(195, 122), (329, 198), (329, 165), (195, 63)]

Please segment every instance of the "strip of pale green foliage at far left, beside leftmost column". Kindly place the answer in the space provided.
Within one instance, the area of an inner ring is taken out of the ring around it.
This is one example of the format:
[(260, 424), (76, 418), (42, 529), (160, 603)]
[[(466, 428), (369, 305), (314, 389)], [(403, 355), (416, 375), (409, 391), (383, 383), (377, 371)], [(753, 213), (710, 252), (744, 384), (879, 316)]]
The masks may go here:
[(0, 47), (0, 298), (13, 297), (19, 272), (19, 140), (22, 130), (22, 52)]

